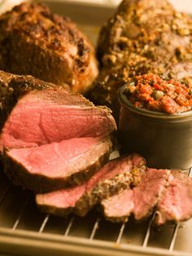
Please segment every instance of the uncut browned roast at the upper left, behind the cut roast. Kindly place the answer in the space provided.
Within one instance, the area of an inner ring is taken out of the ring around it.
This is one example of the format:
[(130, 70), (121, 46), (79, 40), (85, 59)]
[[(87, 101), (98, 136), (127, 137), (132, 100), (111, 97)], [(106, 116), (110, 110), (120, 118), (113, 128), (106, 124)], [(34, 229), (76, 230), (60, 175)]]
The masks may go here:
[(40, 3), (0, 16), (0, 69), (85, 93), (98, 75), (94, 48), (76, 24)]

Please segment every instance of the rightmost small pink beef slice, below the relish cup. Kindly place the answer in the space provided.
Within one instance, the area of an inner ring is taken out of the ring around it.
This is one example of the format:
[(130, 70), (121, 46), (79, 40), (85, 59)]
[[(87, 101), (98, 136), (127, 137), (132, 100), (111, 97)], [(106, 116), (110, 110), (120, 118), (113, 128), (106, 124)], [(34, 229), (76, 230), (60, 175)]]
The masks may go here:
[(181, 222), (192, 217), (192, 179), (178, 170), (172, 170), (169, 185), (157, 205), (155, 223)]

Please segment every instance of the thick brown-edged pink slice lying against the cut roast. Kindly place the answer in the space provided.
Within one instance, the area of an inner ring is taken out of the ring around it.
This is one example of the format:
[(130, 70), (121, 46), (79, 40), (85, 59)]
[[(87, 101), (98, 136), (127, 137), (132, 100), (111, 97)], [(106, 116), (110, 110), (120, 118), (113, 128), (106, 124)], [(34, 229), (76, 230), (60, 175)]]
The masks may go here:
[(10, 179), (35, 192), (53, 191), (89, 178), (108, 160), (111, 139), (74, 138), (34, 148), (7, 151), (5, 172)]

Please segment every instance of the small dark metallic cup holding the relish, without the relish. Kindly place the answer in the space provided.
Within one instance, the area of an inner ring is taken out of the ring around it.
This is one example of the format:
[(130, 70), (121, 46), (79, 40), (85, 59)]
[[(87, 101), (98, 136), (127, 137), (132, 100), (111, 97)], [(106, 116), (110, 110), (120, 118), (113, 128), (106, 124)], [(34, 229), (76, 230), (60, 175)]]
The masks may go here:
[(149, 167), (190, 168), (192, 111), (168, 115), (136, 108), (124, 95), (125, 86), (119, 90), (121, 152), (140, 153)]

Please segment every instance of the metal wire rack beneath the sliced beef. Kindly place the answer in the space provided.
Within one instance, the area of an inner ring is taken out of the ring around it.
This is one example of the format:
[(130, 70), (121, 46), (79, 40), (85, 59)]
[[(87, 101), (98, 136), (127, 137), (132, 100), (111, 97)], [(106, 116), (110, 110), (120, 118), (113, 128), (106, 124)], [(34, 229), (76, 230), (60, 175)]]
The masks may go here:
[[(191, 173), (192, 169), (189, 175)], [(156, 255), (157, 249), (163, 249), (164, 253), (161, 252), (162, 254), (158, 255), (179, 255), (181, 252), (182, 255), (191, 255), (192, 245), (187, 245), (186, 241), (185, 248), (181, 245), (181, 236), (184, 238), (190, 236), (189, 230), (192, 230), (192, 227), (188, 226), (191, 226), (191, 222), (168, 224), (158, 230), (153, 225), (155, 213), (142, 223), (135, 223), (133, 218), (130, 218), (128, 223), (109, 223), (96, 210), (90, 212), (85, 218), (75, 215), (59, 218), (41, 214), (31, 192), (15, 188), (2, 173), (0, 181), (0, 233), (3, 228), (11, 235), (18, 231), (28, 231), (41, 236), (59, 235), (63, 241), (72, 237), (84, 238), (87, 243), (107, 241), (111, 244), (111, 248), (114, 245), (117, 248), (128, 246), (127, 251), (133, 245), (137, 246), (137, 249), (142, 249), (142, 254), (145, 250), (152, 249), (153, 255)], [(1, 250), (0, 242), (0, 252)]]

